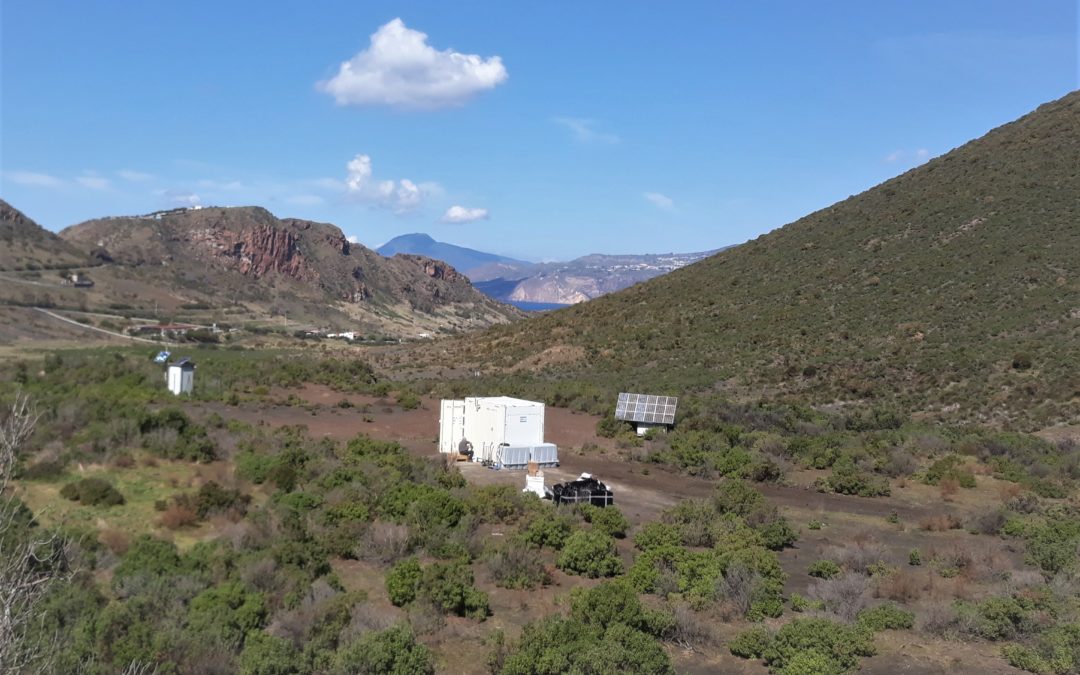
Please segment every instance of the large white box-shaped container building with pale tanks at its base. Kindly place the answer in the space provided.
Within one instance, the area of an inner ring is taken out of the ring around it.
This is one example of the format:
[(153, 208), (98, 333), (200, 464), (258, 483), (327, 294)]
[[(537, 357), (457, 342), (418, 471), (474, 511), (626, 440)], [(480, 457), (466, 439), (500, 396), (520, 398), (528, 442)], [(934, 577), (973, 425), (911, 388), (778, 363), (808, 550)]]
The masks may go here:
[(509, 396), (444, 400), (438, 420), (438, 451), (457, 453), (468, 442), (473, 461), (525, 468), (529, 461), (557, 465), (557, 448), (543, 441), (544, 405)]

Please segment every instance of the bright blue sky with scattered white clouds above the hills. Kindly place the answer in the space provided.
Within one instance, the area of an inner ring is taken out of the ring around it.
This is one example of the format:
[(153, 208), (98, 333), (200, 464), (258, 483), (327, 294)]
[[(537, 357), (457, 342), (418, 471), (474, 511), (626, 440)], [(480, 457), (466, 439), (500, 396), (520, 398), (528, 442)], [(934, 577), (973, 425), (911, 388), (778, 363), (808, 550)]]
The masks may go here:
[(1078, 87), (1065, 0), (6, 0), (0, 22), (0, 197), (50, 229), (259, 204), (528, 259), (739, 243)]

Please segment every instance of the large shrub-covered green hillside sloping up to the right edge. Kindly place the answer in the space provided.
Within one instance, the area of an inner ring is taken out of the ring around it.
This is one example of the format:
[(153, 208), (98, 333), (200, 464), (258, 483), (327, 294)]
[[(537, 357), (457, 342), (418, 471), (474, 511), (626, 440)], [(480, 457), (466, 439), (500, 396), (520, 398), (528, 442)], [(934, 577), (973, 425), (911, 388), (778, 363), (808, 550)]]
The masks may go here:
[(458, 353), (611, 387), (1075, 421), (1078, 171), (1071, 93), (742, 246)]

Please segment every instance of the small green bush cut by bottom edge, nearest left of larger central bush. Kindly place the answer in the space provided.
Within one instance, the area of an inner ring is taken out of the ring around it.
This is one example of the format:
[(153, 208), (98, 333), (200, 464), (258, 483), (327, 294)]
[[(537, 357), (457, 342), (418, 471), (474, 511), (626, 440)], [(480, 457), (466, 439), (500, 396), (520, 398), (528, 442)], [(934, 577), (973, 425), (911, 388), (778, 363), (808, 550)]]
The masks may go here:
[(365, 633), (338, 649), (334, 675), (430, 675), (435, 672), (431, 651), (416, 642), (411, 629), (397, 624), (386, 631)]

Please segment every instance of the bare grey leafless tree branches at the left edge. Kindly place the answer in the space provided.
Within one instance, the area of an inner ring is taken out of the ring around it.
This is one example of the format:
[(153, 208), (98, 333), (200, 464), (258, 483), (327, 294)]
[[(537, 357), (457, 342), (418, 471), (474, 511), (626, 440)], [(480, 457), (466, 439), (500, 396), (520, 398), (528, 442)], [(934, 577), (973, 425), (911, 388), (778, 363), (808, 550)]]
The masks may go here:
[(36, 531), (9, 491), (15, 459), (38, 423), (28, 396), (15, 394), (0, 422), (0, 673), (40, 672), (48, 665), (49, 645), (27, 640), (40, 618), (39, 600), (49, 586), (66, 577), (64, 542)]

